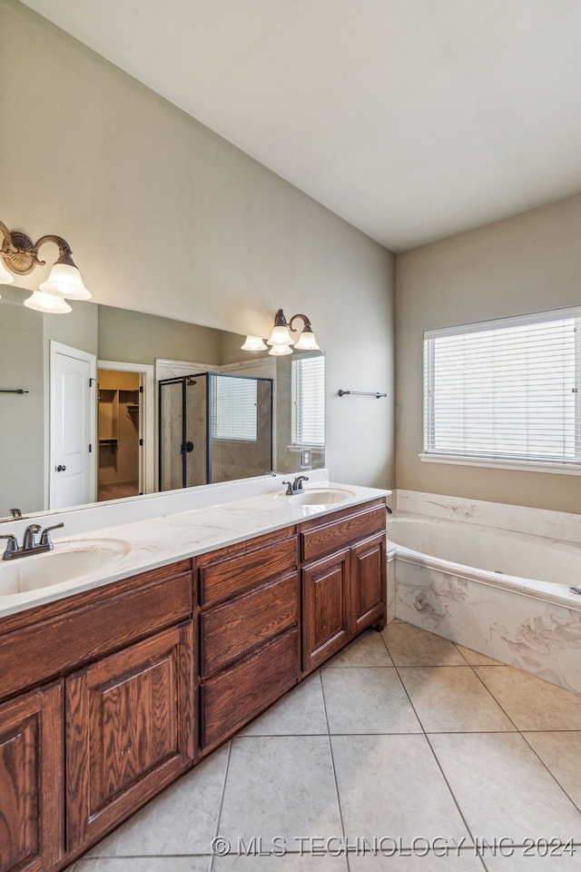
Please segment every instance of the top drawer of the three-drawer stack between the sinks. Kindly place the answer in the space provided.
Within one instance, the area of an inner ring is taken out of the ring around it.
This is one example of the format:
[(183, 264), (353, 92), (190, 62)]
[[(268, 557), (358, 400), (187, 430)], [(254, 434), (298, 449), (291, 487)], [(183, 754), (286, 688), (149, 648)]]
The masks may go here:
[(215, 562), (200, 567), (202, 605), (228, 599), (244, 590), (259, 587), (265, 581), (297, 566), (297, 537), (282, 539), (270, 546), (247, 551), (232, 550)]

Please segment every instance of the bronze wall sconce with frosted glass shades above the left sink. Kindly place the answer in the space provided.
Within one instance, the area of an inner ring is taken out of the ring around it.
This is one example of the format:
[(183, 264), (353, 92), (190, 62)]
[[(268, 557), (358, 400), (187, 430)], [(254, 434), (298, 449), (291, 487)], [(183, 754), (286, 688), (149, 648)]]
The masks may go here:
[[(54, 243), (58, 246), (58, 260), (45, 282), (25, 300), (25, 306), (37, 312), (71, 312), (66, 300), (89, 300), (91, 294), (84, 286), (81, 273), (76, 268), (71, 257), (71, 246), (62, 236), (52, 233), (41, 236), (33, 243), (30, 236), (20, 231), (9, 231), (0, 221), (0, 233), (4, 236), (0, 248), (0, 283), (14, 282), (16, 275), (27, 275), (35, 266), (43, 266), (45, 261), (38, 257), (38, 250), (44, 243)], [(6, 269), (7, 267), (7, 269)], [(10, 272), (8, 272), (10, 271)]]

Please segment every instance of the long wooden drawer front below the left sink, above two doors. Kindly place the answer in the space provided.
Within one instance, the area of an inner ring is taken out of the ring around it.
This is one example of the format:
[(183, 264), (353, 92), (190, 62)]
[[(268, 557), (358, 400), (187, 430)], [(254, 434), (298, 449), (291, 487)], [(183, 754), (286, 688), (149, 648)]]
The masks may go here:
[(63, 675), (190, 617), (192, 572), (167, 576), (148, 583), (144, 575), (133, 590), (112, 592), (109, 599), (88, 605), (79, 595), (63, 614), (0, 636), (2, 696)]

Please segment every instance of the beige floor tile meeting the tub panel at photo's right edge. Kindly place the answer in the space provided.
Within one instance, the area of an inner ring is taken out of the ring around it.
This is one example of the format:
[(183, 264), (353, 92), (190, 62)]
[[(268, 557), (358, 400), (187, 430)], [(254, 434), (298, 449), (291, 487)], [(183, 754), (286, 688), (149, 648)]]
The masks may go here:
[(511, 666), (474, 670), (518, 729), (581, 729), (581, 697), (571, 690)]

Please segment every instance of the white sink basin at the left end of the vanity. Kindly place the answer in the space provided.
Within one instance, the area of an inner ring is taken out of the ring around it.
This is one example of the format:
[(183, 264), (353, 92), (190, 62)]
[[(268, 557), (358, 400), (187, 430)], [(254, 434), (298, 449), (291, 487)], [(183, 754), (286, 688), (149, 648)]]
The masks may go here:
[(0, 560), (0, 597), (49, 588), (87, 575), (119, 560), (131, 545), (121, 539), (55, 542), (54, 550), (15, 560)]

